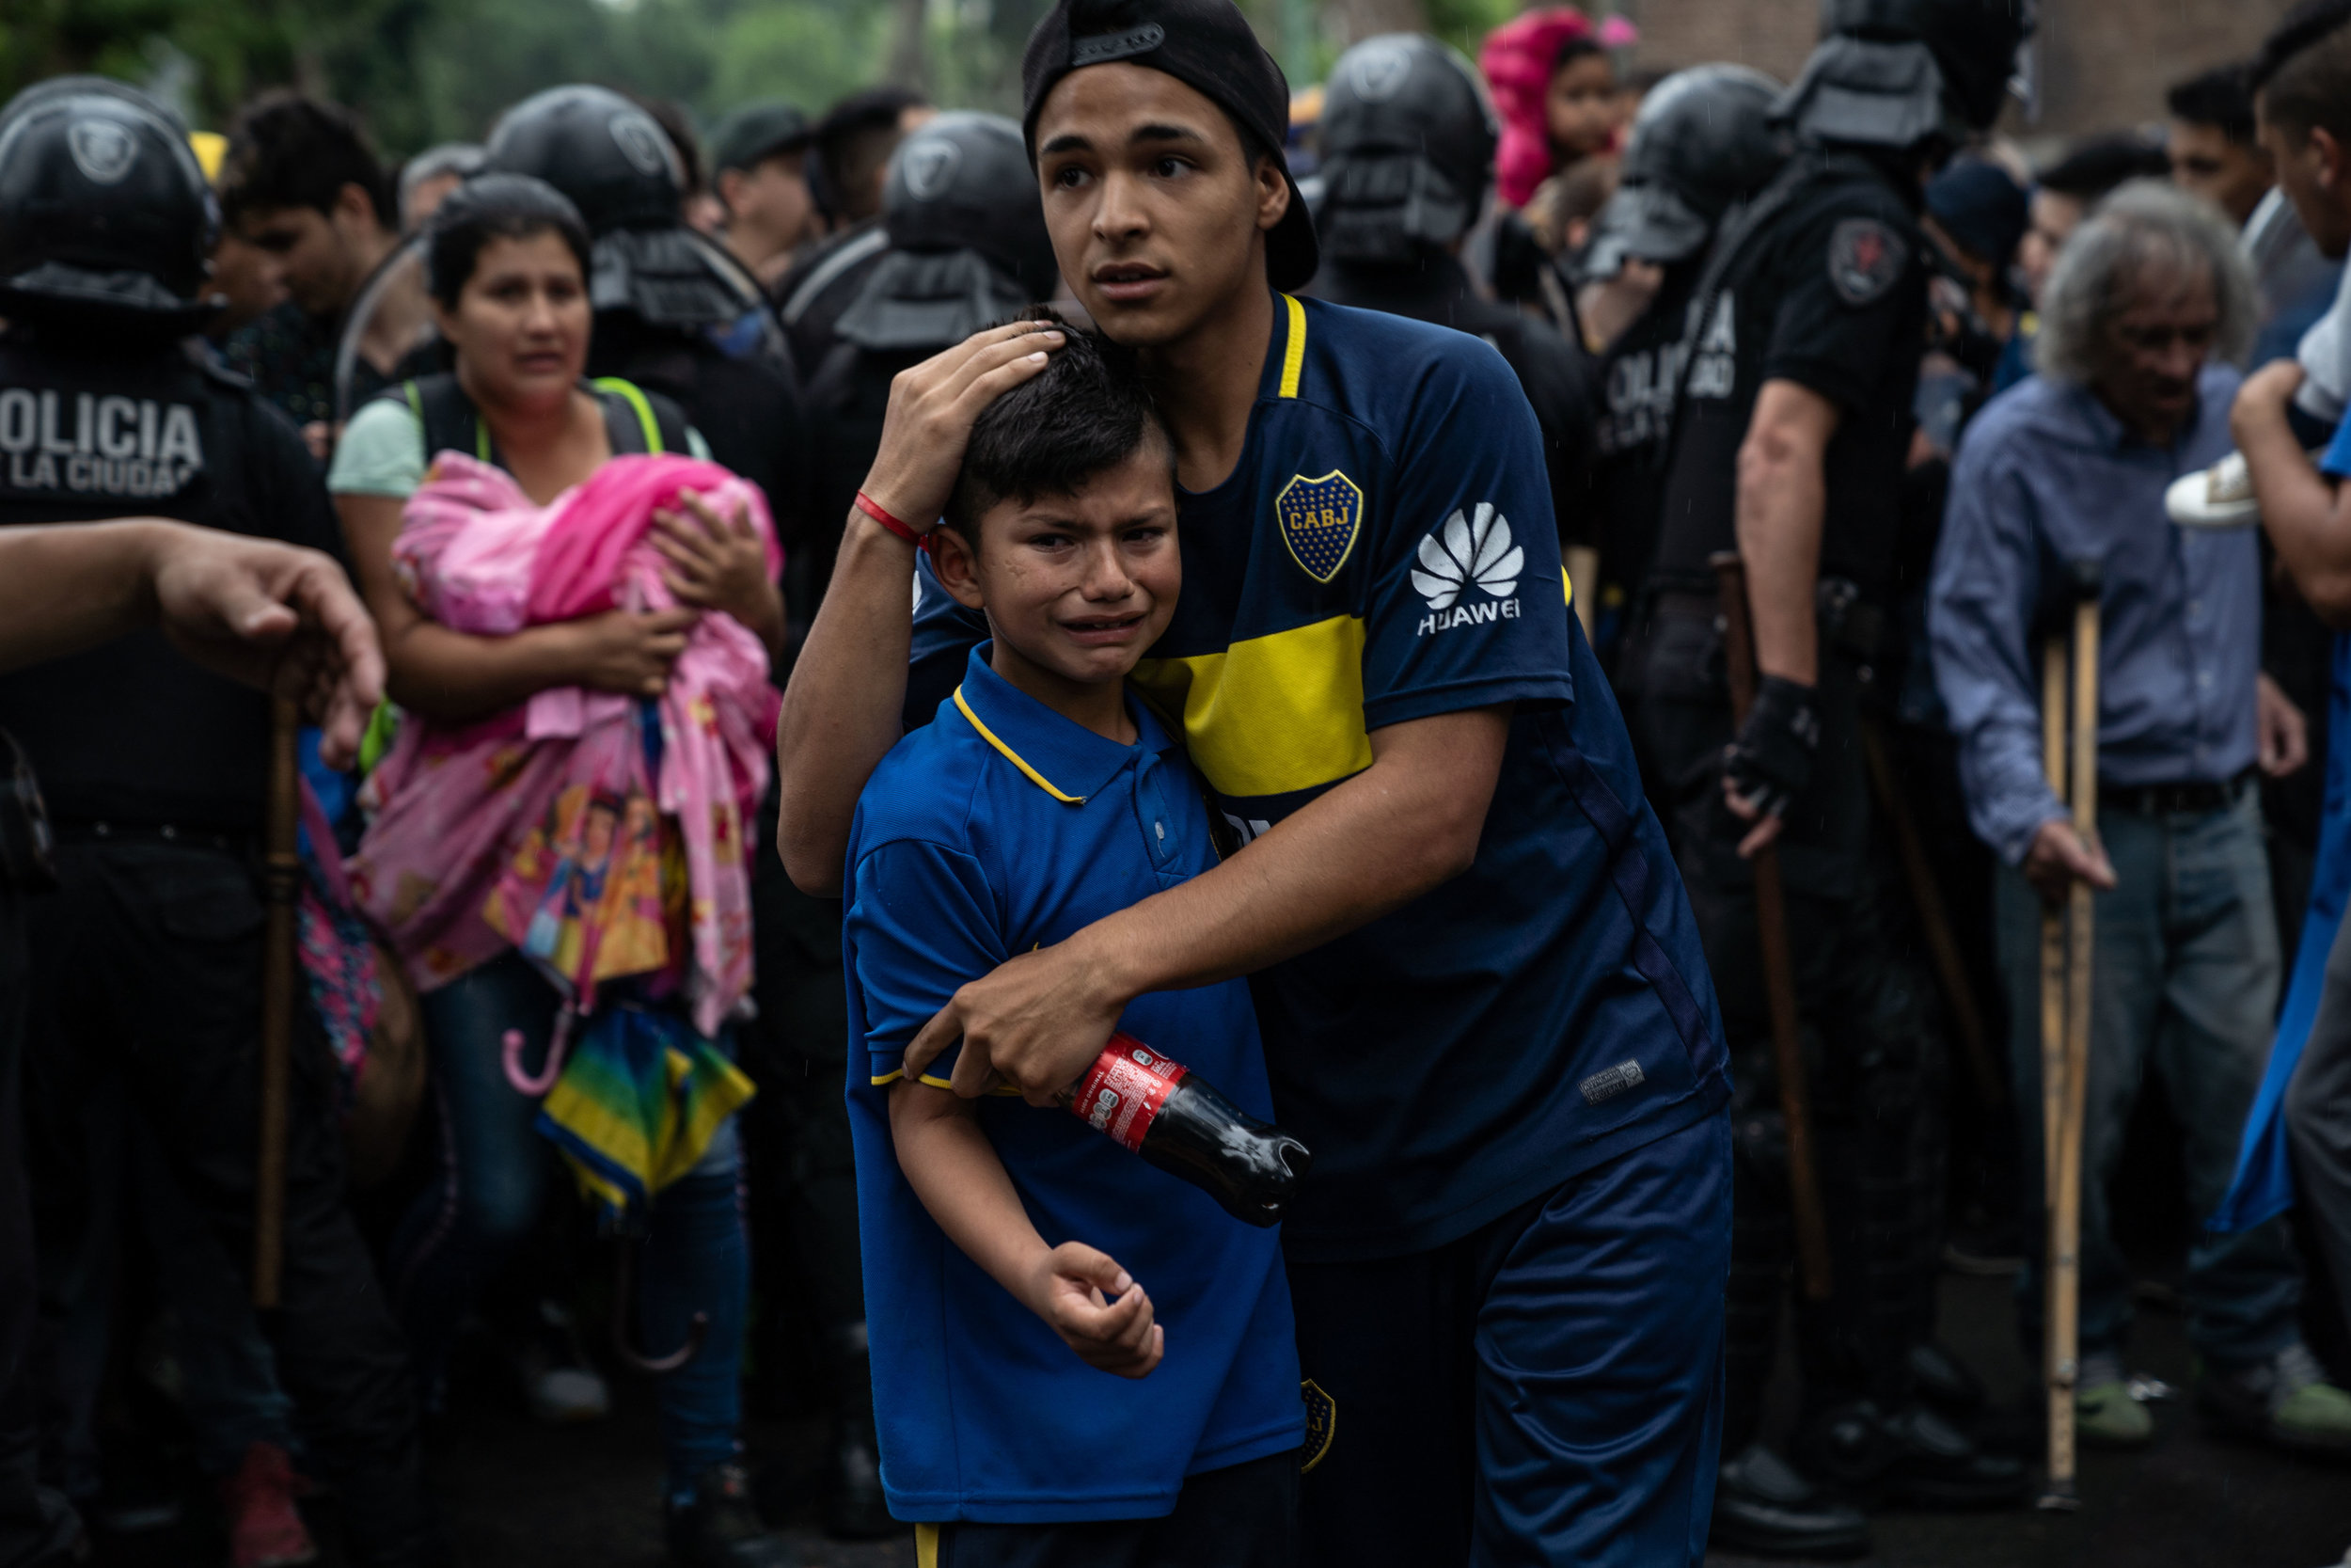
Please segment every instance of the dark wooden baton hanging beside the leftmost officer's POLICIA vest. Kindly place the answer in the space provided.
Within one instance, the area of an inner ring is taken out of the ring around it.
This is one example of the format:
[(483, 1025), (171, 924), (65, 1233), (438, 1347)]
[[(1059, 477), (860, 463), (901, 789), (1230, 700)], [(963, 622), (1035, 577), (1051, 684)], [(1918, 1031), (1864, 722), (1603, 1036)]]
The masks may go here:
[(261, 933), (261, 1133), (254, 1150), (254, 1305), (275, 1307), (287, 1253), (287, 1072), (294, 1060), (294, 849), (301, 708), (270, 698), (270, 785), (261, 870), (268, 924)]

